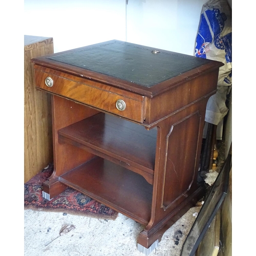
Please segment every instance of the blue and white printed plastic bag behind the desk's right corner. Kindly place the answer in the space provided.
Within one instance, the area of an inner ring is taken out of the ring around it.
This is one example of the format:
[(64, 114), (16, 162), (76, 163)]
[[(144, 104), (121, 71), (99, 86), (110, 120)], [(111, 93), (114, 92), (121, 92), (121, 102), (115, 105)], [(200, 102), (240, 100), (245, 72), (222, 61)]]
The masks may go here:
[(232, 21), (226, 0), (210, 0), (203, 5), (195, 56), (221, 61), (217, 93), (206, 106), (205, 121), (218, 125), (228, 112), (226, 96), (232, 84)]

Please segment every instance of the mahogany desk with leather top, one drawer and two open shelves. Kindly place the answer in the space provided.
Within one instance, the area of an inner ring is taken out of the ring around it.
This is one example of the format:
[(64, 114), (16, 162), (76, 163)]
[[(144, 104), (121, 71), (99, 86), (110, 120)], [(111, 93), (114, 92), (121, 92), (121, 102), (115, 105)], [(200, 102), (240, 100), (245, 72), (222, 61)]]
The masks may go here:
[(51, 200), (68, 186), (145, 225), (150, 253), (190, 207), (205, 109), (221, 62), (107, 41), (38, 57), (36, 88), (52, 94)]

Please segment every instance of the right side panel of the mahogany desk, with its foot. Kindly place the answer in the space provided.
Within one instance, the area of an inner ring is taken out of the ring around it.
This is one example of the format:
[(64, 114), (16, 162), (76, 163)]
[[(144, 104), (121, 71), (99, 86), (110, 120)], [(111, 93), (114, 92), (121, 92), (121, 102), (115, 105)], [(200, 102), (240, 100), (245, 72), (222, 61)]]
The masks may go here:
[(151, 220), (138, 237), (138, 249), (145, 254), (203, 196), (197, 175), (204, 104), (190, 105), (158, 123)]

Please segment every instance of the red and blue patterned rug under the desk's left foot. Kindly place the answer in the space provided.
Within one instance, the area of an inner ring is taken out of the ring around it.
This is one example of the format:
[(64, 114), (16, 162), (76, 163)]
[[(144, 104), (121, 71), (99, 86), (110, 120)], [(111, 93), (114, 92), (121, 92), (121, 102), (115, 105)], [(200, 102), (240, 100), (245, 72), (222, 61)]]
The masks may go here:
[(118, 212), (70, 187), (50, 201), (43, 198), (42, 183), (51, 176), (52, 172), (53, 163), (24, 184), (24, 209), (63, 212), (98, 219), (116, 219)]

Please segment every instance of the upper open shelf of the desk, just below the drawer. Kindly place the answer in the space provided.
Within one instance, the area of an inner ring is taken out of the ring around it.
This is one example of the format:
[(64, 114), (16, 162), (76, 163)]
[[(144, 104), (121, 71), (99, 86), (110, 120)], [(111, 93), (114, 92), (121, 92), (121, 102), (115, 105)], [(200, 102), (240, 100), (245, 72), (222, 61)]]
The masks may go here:
[(118, 163), (153, 184), (157, 130), (99, 113), (60, 129), (58, 136), (60, 143)]

